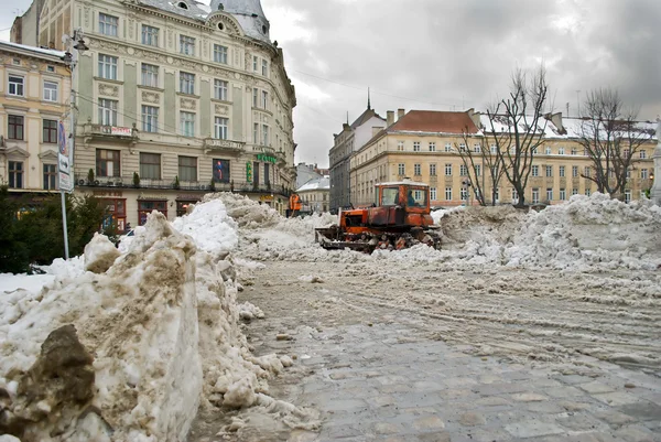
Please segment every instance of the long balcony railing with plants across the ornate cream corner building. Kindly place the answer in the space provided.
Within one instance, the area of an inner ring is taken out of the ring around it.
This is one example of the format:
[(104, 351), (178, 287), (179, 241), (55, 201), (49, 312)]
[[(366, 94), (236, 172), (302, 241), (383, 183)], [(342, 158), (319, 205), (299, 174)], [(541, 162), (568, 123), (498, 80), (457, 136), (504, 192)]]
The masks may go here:
[(88, 188), (150, 188), (150, 190), (176, 190), (176, 191), (202, 191), (202, 192), (238, 192), (238, 193), (273, 193), (282, 196), (289, 196), (292, 191), (283, 185), (253, 183), (214, 183), (199, 181), (180, 181), (178, 185), (174, 180), (149, 180), (140, 179), (140, 184), (136, 185), (133, 176), (97, 176), (94, 181), (87, 180), (87, 175), (76, 175), (75, 185), (77, 187)]

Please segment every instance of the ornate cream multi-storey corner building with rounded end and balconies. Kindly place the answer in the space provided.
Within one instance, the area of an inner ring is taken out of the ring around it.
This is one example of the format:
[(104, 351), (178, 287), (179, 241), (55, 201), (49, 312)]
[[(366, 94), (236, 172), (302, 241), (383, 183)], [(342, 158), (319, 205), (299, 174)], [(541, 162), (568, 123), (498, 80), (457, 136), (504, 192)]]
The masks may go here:
[(120, 229), (235, 191), (284, 212), (295, 188), (294, 87), (259, 0), (46, 0), (42, 45), (82, 29), (76, 192)]

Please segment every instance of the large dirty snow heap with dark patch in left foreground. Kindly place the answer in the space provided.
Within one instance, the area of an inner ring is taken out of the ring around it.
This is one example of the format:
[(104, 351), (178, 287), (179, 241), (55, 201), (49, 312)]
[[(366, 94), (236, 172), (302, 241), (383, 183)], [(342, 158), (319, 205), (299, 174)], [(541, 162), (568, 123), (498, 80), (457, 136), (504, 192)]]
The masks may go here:
[(61, 270), (42, 291), (0, 298), (0, 433), (184, 441), (201, 405), (316, 425), (267, 395), (283, 359), (254, 357), (240, 331), (236, 273), (220, 259), (236, 224), (223, 204), (209, 198), (174, 225), (193, 237), (154, 213), (119, 257), (97, 236), (85, 254), (94, 272)]

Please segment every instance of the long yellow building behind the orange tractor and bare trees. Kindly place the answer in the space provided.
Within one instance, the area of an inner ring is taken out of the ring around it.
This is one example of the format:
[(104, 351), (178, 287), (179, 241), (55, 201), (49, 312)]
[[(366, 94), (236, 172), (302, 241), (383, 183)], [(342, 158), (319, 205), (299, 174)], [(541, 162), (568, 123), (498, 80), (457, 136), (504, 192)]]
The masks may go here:
[[(589, 195), (596, 184), (581, 177), (592, 162), (577, 142), (579, 120), (562, 119), (562, 115), (548, 116), (544, 141), (538, 148), (525, 201), (561, 203), (574, 194)], [(432, 206), (477, 204), (473, 191), (465, 186), (468, 171), (458, 149), (476, 152), (476, 168), (488, 204), (491, 202), (490, 175), (485, 174), (479, 152), (492, 151), (486, 145), (486, 116), (473, 111), (444, 112), (411, 110), (394, 121), (388, 112), (387, 128), (380, 130), (350, 159), (350, 193), (354, 205), (375, 202), (375, 184), (410, 177), (430, 185)], [(644, 125), (644, 123), (643, 123)], [(653, 129), (653, 125), (649, 123)], [(626, 191), (626, 200), (638, 200), (651, 187), (653, 163), (651, 153), (655, 141), (643, 145), (633, 159), (633, 168)], [(517, 195), (503, 176), (496, 193), (497, 204), (511, 204)]]

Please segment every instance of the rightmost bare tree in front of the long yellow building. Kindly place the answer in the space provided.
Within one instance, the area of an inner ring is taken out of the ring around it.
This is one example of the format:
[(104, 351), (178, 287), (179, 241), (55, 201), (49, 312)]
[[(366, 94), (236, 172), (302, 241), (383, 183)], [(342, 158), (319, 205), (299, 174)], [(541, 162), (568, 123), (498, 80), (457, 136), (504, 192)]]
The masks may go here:
[(625, 108), (617, 90), (589, 91), (584, 109), (577, 141), (592, 168), (581, 176), (594, 181), (598, 192), (621, 200), (633, 155), (652, 138), (652, 132), (638, 126), (638, 112)]

